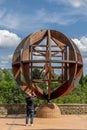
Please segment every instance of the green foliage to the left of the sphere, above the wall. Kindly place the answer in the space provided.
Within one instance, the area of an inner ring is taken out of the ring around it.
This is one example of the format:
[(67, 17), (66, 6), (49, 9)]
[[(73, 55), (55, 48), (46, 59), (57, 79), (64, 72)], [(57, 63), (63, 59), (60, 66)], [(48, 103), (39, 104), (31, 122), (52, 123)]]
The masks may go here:
[(3, 79), (0, 81), (0, 103), (24, 103), (24, 93), (17, 85), (10, 69), (0, 71)]

